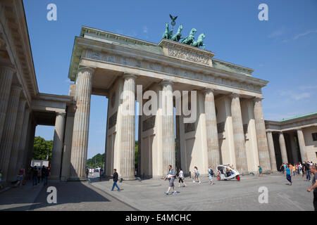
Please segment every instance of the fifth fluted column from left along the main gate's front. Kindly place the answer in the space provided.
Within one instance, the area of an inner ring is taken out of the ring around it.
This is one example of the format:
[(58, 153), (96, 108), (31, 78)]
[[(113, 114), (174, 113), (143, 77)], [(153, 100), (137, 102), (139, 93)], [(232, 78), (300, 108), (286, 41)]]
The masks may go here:
[(233, 128), (233, 140), (235, 142), (235, 163), (240, 173), (247, 173), (247, 153), (244, 141), (244, 132), (242, 124), (242, 114), (240, 107), (239, 94), (232, 94), (231, 116)]

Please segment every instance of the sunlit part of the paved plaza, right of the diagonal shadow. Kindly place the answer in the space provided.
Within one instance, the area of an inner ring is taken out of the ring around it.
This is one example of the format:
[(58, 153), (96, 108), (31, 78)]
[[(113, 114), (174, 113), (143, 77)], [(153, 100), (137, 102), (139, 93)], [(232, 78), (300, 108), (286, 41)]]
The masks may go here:
[[(214, 181), (209, 185), (208, 176), (201, 177), (201, 184), (186, 178), (187, 187), (179, 193), (164, 195), (168, 181), (149, 179), (118, 183), (123, 191), (110, 191), (112, 181), (92, 182), (93, 186), (109, 193), (139, 210), (313, 210), (313, 193), (306, 190), (311, 182), (302, 176), (293, 177), (287, 185), (284, 174), (242, 176), (241, 181)], [(268, 188), (268, 203), (259, 203), (259, 187)], [(171, 192), (170, 192), (171, 193)]]

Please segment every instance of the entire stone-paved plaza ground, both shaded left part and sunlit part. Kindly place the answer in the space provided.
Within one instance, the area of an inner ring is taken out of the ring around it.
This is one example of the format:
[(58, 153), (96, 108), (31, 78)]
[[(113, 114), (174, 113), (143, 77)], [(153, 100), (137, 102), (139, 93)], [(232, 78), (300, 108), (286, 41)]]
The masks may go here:
[[(311, 182), (293, 177), (288, 186), (285, 175), (242, 176), (241, 181), (214, 181), (201, 177), (201, 184), (186, 178), (186, 188), (165, 195), (168, 181), (147, 179), (118, 183), (123, 191), (111, 191), (112, 180), (90, 177), (89, 182), (49, 182), (57, 189), (57, 204), (46, 201), (46, 187), (31, 182), (0, 193), (0, 210), (313, 210)], [(268, 188), (268, 204), (259, 203), (259, 187)]]

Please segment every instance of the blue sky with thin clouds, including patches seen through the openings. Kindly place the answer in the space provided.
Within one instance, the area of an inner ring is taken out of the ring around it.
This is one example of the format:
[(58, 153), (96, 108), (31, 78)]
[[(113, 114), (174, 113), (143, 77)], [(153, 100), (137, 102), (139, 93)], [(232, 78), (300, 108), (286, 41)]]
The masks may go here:
[[(170, 22), (183, 34), (204, 32), (214, 58), (254, 69), (266, 79), (263, 113), (281, 120), (317, 111), (317, 1), (23, 1), (40, 92), (68, 94), (68, 69), (75, 36), (82, 25), (159, 43)], [(57, 6), (57, 21), (46, 20), (46, 6)], [(261, 3), (268, 21), (258, 19)], [(88, 158), (104, 153), (107, 100), (92, 96)], [(54, 127), (36, 135), (53, 139)]]

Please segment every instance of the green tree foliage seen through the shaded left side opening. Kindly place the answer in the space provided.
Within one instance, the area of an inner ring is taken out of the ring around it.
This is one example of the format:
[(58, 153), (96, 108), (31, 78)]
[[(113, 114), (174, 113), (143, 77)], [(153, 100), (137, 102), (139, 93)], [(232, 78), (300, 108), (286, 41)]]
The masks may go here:
[(40, 136), (36, 136), (33, 144), (33, 160), (46, 160), (49, 154), (49, 162), (51, 162), (51, 152), (53, 150), (53, 141), (46, 141)]

